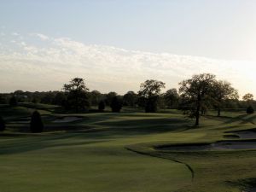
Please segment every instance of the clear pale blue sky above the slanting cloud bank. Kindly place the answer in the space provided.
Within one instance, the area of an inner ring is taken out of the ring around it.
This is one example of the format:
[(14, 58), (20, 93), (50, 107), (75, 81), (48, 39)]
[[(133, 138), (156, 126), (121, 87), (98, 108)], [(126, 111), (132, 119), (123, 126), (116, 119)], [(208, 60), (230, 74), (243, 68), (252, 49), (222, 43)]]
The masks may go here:
[(3, 0), (0, 23), (84, 44), (249, 60), (255, 10), (253, 0)]

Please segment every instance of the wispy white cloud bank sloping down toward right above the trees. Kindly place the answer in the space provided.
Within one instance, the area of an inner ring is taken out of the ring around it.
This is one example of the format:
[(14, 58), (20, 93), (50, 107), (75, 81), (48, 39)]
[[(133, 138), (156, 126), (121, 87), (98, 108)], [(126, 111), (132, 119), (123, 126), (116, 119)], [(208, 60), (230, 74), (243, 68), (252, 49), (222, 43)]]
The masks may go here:
[[(11, 90), (60, 90), (73, 77), (86, 79), (90, 90), (124, 93), (138, 90), (146, 79), (166, 82), (167, 88), (195, 73), (215, 73), (241, 90), (256, 94), (255, 63), (219, 61), (205, 57), (150, 53), (112, 46), (86, 45), (70, 38), (49, 38), (47, 45), (16, 42), (17, 47), (0, 53), (0, 86)], [(2, 91), (3, 91), (2, 90)]]

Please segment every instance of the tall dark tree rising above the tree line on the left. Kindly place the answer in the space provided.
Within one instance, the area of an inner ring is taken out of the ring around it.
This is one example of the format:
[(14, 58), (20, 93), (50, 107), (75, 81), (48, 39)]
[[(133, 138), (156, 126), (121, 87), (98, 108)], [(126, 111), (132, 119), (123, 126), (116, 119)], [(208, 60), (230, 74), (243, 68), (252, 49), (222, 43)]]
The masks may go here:
[(74, 108), (76, 112), (89, 108), (89, 99), (87, 96), (89, 89), (85, 86), (84, 79), (72, 79), (70, 84), (64, 84), (63, 90), (67, 94), (66, 108)]

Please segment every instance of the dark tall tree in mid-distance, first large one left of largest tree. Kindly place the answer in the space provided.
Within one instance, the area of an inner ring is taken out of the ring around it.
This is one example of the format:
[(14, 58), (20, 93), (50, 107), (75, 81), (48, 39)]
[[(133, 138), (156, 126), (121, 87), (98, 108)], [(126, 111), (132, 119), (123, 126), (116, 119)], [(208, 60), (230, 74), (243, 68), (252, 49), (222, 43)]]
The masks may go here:
[(165, 88), (165, 83), (154, 79), (146, 80), (141, 84), (140, 90), (138, 91), (139, 102), (144, 103), (146, 113), (157, 112), (162, 88)]

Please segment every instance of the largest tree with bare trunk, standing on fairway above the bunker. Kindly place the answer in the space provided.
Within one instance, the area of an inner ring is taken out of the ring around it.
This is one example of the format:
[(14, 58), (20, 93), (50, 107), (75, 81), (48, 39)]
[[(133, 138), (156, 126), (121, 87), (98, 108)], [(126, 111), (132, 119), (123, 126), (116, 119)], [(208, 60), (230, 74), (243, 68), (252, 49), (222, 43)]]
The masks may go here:
[(215, 75), (203, 73), (179, 83), (179, 92), (183, 101), (186, 101), (186, 108), (189, 109), (190, 117), (195, 117), (195, 125), (199, 125), (200, 112), (211, 99), (212, 87), (215, 81)]

